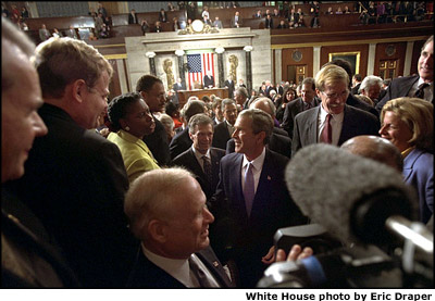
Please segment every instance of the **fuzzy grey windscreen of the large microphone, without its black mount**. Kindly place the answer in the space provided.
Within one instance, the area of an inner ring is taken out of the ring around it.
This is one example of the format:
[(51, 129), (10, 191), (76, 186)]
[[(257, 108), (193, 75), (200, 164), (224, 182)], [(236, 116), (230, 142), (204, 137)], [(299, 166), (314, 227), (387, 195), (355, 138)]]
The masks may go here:
[(396, 170), (326, 143), (300, 149), (288, 163), (285, 178), (302, 213), (344, 242), (357, 240), (351, 211), (366, 196), (394, 188), (407, 200), (414, 197)]

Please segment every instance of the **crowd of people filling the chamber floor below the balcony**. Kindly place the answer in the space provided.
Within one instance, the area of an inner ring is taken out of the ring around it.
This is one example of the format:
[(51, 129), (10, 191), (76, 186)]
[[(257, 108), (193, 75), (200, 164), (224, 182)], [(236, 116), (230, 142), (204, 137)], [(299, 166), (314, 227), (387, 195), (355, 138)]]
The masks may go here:
[(433, 223), (433, 36), (418, 75), (394, 78), (382, 99), (378, 80), (362, 80), (376, 109), (351, 93), (344, 60), (306, 78), (300, 97), (265, 80), (249, 98), (241, 81), (234, 98), (190, 97), (181, 120), (153, 75), (108, 101), (112, 75), (86, 42), (35, 48), (2, 18), (2, 287), (252, 288), (286, 253), (313, 253), (274, 252), (278, 228), (309, 223), (285, 183), (291, 156), (350, 139), (361, 151), (361, 136), (380, 147), (358, 155), (400, 153), (395, 172)]

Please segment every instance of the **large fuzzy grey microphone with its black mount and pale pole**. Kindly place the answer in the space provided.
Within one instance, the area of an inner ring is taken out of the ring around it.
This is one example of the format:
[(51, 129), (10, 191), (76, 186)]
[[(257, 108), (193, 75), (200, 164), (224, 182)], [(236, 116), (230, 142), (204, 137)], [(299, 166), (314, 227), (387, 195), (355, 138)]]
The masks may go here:
[(396, 242), (393, 233), (433, 254), (433, 235), (408, 221), (417, 217), (415, 192), (386, 164), (316, 143), (293, 156), (285, 177), (302, 213), (337, 239), (383, 247)]

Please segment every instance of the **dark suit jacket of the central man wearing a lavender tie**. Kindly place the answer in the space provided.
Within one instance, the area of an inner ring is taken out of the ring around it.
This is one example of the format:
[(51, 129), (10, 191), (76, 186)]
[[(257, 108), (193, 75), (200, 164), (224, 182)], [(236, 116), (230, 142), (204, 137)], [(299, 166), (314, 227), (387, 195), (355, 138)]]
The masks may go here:
[[(241, 286), (253, 287), (262, 276), (261, 258), (272, 247), (275, 231), (304, 224), (307, 220), (291, 200), (284, 180), (288, 158), (268, 149), (248, 217), (241, 189), (243, 160), (241, 153), (231, 153), (221, 160), (220, 181), (210, 201), (210, 210), (215, 216), (211, 241), (217, 255), (216, 244), (225, 249), (220, 250), (223, 258), (234, 258)], [(228, 251), (233, 253), (228, 254)]]

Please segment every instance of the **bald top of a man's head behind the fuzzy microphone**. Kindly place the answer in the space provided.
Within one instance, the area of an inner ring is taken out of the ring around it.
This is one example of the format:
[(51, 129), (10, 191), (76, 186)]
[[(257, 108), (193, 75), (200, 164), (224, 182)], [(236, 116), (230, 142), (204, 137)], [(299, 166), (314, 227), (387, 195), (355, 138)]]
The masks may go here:
[(357, 136), (344, 142), (341, 149), (387, 164), (399, 173), (402, 172), (403, 160), (400, 151), (387, 139), (370, 135)]

